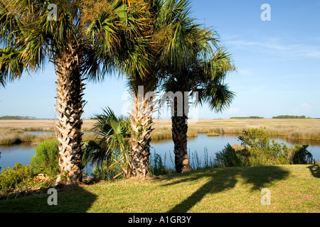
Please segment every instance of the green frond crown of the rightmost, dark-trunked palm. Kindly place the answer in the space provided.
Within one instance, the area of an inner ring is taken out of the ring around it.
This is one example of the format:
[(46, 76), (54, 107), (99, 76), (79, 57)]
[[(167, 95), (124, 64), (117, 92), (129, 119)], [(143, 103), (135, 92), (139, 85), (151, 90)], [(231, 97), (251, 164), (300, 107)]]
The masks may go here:
[(228, 73), (235, 71), (230, 53), (219, 45), (216, 33), (199, 25), (188, 38), (189, 55), (181, 55), (187, 67), (166, 70), (166, 79), (161, 88), (172, 92), (198, 92), (198, 103), (194, 106), (208, 104), (213, 111), (227, 109), (235, 93), (224, 83)]

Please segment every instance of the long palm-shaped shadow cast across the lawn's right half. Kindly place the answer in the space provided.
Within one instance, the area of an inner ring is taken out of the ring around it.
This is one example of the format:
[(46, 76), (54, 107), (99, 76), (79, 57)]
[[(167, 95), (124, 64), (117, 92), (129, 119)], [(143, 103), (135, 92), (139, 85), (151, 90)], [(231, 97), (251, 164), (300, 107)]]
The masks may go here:
[(237, 178), (241, 177), (245, 184), (251, 184), (251, 190), (261, 190), (272, 182), (286, 179), (289, 176), (287, 170), (279, 166), (262, 166), (262, 167), (234, 167), (225, 169), (213, 169), (203, 174), (197, 172), (189, 173), (190, 177), (179, 179), (167, 185), (179, 184), (182, 182), (192, 182), (203, 177), (208, 177), (209, 181), (201, 186), (196, 192), (180, 204), (176, 205), (169, 213), (186, 213), (195, 206), (206, 194), (223, 192), (235, 187), (238, 182)]

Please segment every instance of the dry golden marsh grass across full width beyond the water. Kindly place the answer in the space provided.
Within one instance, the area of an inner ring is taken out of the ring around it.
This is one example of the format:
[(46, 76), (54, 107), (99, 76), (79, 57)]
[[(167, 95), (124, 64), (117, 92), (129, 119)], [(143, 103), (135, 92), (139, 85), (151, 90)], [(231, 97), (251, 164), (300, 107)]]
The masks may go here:
[[(82, 130), (90, 131), (95, 120), (85, 120)], [(317, 119), (199, 119), (188, 124), (188, 137), (198, 133), (208, 135), (240, 134), (249, 128), (265, 127), (272, 136), (288, 140), (320, 140), (320, 120)], [(36, 142), (48, 135), (30, 135), (26, 131), (54, 131), (55, 120), (0, 120), (0, 144)], [(153, 140), (171, 139), (171, 120), (155, 119)], [(86, 135), (87, 137), (89, 135)]]

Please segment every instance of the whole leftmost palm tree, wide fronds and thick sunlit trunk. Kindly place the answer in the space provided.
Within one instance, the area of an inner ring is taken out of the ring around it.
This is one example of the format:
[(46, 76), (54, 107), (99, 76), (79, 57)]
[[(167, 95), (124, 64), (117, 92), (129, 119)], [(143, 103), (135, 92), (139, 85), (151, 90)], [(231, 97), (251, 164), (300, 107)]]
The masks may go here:
[[(82, 100), (85, 79), (99, 80), (129, 52), (139, 60), (137, 45), (142, 16), (139, 0), (53, 0), (55, 20), (48, 17), (48, 1), (4, 0), (0, 4), (0, 82), (36, 72), (47, 60), (57, 75), (57, 138), (61, 177), (82, 180)], [(135, 51), (131, 51), (131, 50)], [(124, 53), (124, 54), (123, 54)], [(122, 60), (123, 61), (123, 60)], [(139, 69), (144, 68), (144, 61)]]

